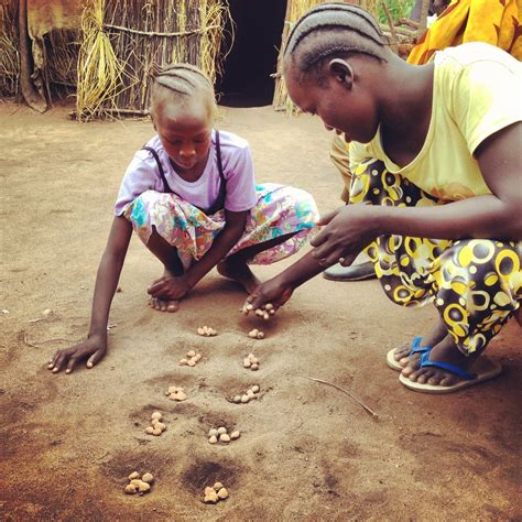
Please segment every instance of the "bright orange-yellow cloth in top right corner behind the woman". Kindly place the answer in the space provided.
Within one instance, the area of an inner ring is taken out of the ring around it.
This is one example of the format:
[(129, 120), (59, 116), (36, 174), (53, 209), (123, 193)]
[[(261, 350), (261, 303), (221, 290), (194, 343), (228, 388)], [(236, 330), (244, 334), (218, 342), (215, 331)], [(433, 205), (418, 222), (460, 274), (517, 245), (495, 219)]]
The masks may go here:
[(485, 42), (522, 59), (522, 1), (453, 0), (411, 51), (407, 62), (427, 63), (436, 51)]

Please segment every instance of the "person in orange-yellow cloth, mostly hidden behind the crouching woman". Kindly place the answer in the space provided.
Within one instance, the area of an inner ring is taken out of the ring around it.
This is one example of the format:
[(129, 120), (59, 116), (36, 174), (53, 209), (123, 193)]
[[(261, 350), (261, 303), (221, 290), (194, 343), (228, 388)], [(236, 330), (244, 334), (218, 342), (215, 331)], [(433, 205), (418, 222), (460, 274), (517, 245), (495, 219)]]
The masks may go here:
[[(449, 6), (448, 6), (449, 4)], [(417, 0), (410, 15), (418, 21), (422, 0)], [(516, 0), (434, 0), (428, 14), (437, 17), (429, 29), (411, 51), (407, 62), (422, 65), (433, 58), (435, 52), (466, 42), (485, 42), (500, 47), (522, 61), (522, 1)], [(344, 188), (341, 200), (348, 203), (351, 183), (347, 143), (336, 135), (331, 143), (330, 159), (339, 171)], [(376, 276), (373, 264), (361, 253), (350, 267), (334, 264), (323, 272), (331, 281), (360, 281)]]

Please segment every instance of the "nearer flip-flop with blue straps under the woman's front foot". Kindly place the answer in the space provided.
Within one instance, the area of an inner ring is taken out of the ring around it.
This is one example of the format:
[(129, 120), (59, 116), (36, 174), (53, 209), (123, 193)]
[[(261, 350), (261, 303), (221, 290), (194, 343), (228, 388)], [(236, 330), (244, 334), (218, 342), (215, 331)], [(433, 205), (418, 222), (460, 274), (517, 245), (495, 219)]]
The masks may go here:
[(449, 371), (455, 373), (461, 380), (456, 382), (450, 387), (442, 387), (439, 384), (421, 384), (420, 382), (411, 381), (407, 377), (403, 374), (399, 376), (399, 380), (410, 390), (414, 390), (421, 393), (453, 393), (457, 390), (463, 390), (464, 388), (472, 387), (479, 382), (493, 379), (502, 372), (502, 366), (500, 362), (480, 358), (474, 363), (475, 373), (470, 371), (463, 370), (455, 365), (449, 365), (448, 362), (442, 361), (431, 361), (429, 351), (426, 351), (421, 356), (421, 368), (441, 368), (442, 370)]

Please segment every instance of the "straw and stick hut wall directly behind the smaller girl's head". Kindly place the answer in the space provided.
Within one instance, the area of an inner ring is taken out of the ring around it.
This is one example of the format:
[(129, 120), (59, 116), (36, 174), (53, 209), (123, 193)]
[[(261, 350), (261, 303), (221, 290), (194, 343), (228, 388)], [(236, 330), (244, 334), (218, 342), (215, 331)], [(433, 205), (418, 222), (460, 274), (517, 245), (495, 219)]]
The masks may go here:
[[(145, 115), (154, 73), (172, 62), (214, 80), (228, 7), (219, 0), (95, 0), (83, 25), (77, 115)], [(89, 21), (90, 20), (90, 21)]]

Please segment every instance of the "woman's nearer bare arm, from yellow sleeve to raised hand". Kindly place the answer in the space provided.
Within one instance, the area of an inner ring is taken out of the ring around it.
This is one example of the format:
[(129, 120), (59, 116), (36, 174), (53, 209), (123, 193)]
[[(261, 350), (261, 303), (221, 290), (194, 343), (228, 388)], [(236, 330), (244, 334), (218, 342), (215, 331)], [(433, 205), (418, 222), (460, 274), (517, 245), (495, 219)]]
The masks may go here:
[(485, 140), (476, 151), (482, 176), (492, 194), (436, 207), (348, 205), (312, 241), (313, 255), (325, 264), (368, 244), (380, 235), (433, 239), (522, 239), (522, 123)]

